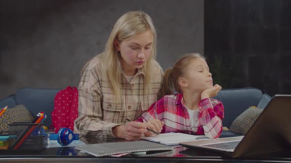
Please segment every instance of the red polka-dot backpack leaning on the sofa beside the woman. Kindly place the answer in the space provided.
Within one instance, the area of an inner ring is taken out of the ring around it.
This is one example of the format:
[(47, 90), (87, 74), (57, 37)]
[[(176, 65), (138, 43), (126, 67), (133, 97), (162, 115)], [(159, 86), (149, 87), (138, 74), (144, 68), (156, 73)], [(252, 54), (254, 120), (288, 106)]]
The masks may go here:
[(51, 117), (55, 133), (58, 133), (63, 127), (73, 131), (74, 120), (78, 117), (78, 90), (76, 87), (68, 86), (67, 89), (56, 94)]

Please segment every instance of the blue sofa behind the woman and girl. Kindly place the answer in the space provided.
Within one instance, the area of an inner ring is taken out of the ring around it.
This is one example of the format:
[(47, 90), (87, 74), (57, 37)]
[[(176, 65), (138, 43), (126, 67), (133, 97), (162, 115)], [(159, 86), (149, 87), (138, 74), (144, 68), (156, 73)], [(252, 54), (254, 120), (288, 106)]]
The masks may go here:
[[(0, 108), (6, 105), (8, 105), (8, 108), (13, 108), (16, 105), (24, 105), (34, 116), (39, 111), (44, 111), (47, 114), (44, 125), (49, 127), (52, 124), (51, 111), (54, 109), (54, 98), (58, 91), (60, 89), (20, 88), (15, 94), (1, 100)], [(269, 95), (262, 94), (256, 88), (222, 89), (219, 91), (218, 96), (214, 98), (221, 101), (224, 105), (224, 119), (222, 123), (223, 126), (228, 128), (233, 120), (244, 110), (251, 106), (265, 108), (271, 100)], [(235, 134), (223, 131), (221, 135)]]

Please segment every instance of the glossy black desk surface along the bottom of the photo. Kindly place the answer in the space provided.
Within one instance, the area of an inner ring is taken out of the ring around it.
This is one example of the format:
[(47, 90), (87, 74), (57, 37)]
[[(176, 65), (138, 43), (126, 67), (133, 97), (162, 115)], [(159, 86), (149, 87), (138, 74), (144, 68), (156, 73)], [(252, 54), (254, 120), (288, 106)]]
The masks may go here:
[[(120, 142), (122, 139), (108, 139), (94, 136), (80, 137), (80, 140), (87, 144), (105, 143), (105, 142)], [(95, 162), (95, 163), (131, 163), (139, 161), (141, 163), (159, 162), (159, 163), (209, 163), (209, 162), (289, 162), (291, 163), (291, 151), (272, 153), (268, 155), (259, 155), (249, 158), (230, 158), (220, 153), (190, 149), (186, 147), (175, 147), (172, 152), (156, 156), (148, 157), (146, 155), (126, 155), (119, 158), (115, 157), (94, 157), (90, 154), (82, 153), (74, 147), (48, 148), (39, 152), (29, 151), (5, 151), (0, 152), (0, 162), (11, 161), (17, 162), (33, 162), (33, 163), (61, 163), (61, 162)]]

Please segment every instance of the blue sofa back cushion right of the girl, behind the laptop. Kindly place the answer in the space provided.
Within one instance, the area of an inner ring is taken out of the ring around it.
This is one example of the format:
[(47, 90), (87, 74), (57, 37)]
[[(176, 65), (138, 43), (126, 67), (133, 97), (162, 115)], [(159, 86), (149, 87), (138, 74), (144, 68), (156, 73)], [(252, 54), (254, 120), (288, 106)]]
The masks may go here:
[(257, 88), (222, 89), (214, 97), (224, 106), (222, 125), (230, 127), (233, 120), (250, 106), (257, 106), (262, 92)]

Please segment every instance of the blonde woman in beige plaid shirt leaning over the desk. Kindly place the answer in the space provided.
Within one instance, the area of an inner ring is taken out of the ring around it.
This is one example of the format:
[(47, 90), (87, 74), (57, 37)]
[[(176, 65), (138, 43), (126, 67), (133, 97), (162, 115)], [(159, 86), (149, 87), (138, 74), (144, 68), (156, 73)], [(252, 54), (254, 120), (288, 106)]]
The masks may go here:
[(83, 68), (75, 133), (127, 140), (148, 133), (146, 123), (126, 119), (140, 117), (157, 101), (163, 72), (155, 61), (156, 40), (146, 13), (128, 12), (117, 20), (104, 52)]

